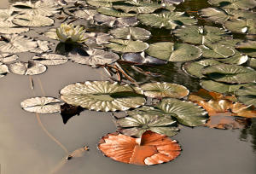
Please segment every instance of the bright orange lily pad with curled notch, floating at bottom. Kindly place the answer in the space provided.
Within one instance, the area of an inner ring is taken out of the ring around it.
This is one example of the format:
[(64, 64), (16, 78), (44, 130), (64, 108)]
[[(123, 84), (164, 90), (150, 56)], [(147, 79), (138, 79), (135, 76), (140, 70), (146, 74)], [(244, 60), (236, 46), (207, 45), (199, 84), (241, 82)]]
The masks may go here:
[(119, 162), (133, 165), (157, 165), (177, 158), (181, 148), (177, 141), (146, 131), (141, 138), (118, 133), (103, 136), (98, 148)]

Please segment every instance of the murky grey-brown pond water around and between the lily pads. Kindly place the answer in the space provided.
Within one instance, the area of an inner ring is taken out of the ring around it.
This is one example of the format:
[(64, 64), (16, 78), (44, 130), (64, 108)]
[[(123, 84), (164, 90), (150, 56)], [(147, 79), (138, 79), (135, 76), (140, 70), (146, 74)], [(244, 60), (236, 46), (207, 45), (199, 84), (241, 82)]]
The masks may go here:
[[(6, 9), (8, 1), (1, 0), (0, 8)], [(187, 0), (178, 6), (184, 11), (196, 11), (208, 7), (205, 0)], [(201, 24), (205, 21), (201, 20)], [(212, 25), (212, 24), (211, 24)], [(154, 37), (148, 43), (162, 40), (172, 41), (171, 34), (165, 30), (151, 30)], [(32, 31), (32, 36), (35, 32)], [(22, 61), (28, 61), (31, 54), (20, 54)], [(167, 81), (183, 84), (190, 91), (199, 90), (197, 78), (191, 78), (180, 68), (180, 63), (168, 63), (159, 67), (144, 67), (144, 71), (160, 73), (160, 78), (144, 76), (131, 67), (124, 65), (137, 82), (149, 80)], [(256, 120), (252, 127), (243, 130), (218, 130), (199, 126), (189, 128), (180, 125), (180, 132), (172, 139), (181, 144), (183, 151), (177, 159), (162, 165), (127, 165), (104, 157), (96, 148), (102, 136), (116, 131), (111, 113), (83, 111), (79, 116), (63, 124), (60, 113), (28, 113), (21, 109), (20, 102), (33, 96), (54, 96), (67, 84), (86, 80), (108, 80), (108, 74), (102, 68), (83, 66), (71, 61), (60, 66), (48, 67), (46, 73), (32, 76), (34, 90), (31, 90), (30, 78), (9, 73), (0, 78), (0, 173), (1, 174), (254, 174), (256, 172)], [(42, 127), (43, 126), (43, 127)], [(65, 159), (67, 153), (52, 138), (72, 153), (84, 145), (90, 151), (83, 156)], [(250, 132), (251, 133), (250, 133)]]

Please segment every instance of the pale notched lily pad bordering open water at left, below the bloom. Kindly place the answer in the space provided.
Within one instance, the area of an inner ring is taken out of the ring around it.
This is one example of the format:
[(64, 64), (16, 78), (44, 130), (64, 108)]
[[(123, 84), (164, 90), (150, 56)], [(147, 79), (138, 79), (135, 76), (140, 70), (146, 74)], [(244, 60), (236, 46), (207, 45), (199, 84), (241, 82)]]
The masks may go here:
[(19, 61), (9, 65), (9, 71), (11, 73), (20, 75), (37, 75), (44, 73), (46, 69), (47, 67), (45, 67), (43, 64), (33, 61), (28, 61), (28, 63)]

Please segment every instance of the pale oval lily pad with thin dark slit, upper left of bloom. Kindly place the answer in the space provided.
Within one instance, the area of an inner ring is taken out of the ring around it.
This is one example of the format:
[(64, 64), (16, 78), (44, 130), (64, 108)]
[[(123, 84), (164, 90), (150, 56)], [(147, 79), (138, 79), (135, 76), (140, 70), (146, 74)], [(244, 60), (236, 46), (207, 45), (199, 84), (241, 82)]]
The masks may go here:
[(12, 20), (18, 26), (52, 26), (54, 20), (43, 15), (29, 15), (21, 14), (17, 15), (14, 20)]

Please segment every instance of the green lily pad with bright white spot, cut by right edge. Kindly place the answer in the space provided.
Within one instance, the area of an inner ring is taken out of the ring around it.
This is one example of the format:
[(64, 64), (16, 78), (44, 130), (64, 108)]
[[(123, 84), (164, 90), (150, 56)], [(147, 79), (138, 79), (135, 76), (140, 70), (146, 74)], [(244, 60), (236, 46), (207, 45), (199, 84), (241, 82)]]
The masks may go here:
[(224, 27), (231, 32), (240, 32), (247, 34), (256, 34), (256, 20), (255, 19), (234, 19), (224, 22)]

